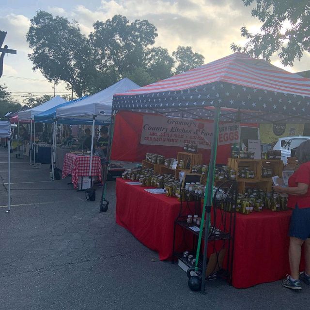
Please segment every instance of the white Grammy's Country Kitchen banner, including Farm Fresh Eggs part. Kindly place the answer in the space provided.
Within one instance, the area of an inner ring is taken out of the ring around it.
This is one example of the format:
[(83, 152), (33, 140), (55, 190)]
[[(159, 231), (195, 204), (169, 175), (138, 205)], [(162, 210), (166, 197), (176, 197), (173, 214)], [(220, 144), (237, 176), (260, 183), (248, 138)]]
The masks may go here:
[[(197, 144), (199, 149), (211, 149), (213, 123), (144, 115), (140, 144), (183, 147), (185, 143)], [(239, 124), (220, 124), (218, 145), (239, 141)]]

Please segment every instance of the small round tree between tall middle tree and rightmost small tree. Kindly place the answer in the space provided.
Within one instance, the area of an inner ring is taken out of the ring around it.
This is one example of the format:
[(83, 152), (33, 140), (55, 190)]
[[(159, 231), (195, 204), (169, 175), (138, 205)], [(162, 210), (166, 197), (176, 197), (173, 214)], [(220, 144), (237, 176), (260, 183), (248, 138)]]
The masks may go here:
[(155, 80), (170, 78), (174, 59), (169, 55), (168, 50), (163, 47), (152, 47), (146, 52), (146, 71)]

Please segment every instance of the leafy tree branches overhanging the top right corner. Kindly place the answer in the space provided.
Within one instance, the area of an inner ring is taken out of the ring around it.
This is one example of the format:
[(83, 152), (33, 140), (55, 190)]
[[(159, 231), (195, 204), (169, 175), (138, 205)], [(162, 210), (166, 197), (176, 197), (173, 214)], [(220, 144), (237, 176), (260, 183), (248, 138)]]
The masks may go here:
[(281, 63), (290, 66), (300, 60), (304, 52), (310, 52), (309, 0), (243, 0), (243, 3), (245, 6), (255, 3), (251, 14), (263, 25), (261, 33), (251, 33), (243, 26), (241, 36), (248, 42), (244, 47), (233, 43), (233, 51), (267, 61), (279, 52)]

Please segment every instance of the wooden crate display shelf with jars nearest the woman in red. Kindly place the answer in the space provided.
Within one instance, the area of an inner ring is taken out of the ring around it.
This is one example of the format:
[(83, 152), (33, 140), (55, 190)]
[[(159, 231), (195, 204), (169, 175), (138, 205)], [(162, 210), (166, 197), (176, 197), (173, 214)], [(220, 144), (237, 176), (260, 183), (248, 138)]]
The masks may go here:
[(255, 172), (254, 179), (244, 179), (237, 176), (238, 191), (241, 194), (245, 193), (246, 187), (256, 187), (263, 189), (267, 192), (272, 189), (271, 177), (262, 177), (262, 168), (271, 168), (272, 176), (282, 176), (283, 163), (279, 159), (241, 159), (241, 158), (228, 158), (228, 166), (238, 171), (240, 168), (248, 168)]

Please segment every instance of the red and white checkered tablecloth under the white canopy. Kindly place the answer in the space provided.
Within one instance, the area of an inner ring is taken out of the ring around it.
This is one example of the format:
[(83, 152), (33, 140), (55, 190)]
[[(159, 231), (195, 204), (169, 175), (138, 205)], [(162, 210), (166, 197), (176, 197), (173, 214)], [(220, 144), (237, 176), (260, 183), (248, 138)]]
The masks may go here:
[[(67, 153), (63, 159), (62, 179), (71, 174), (74, 188), (78, 188), (78, 177), (88, 176), (91, 156), (81, 156)], [(100, 157), (93, 156), (92, 176), (98, 176), (102, 181)]]

